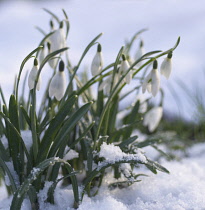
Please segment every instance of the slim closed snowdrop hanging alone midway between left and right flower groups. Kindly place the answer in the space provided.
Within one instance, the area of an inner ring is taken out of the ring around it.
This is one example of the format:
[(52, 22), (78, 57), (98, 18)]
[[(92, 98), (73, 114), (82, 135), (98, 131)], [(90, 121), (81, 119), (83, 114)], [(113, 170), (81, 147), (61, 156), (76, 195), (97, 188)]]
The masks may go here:
[(95, 54), (92, 64), (91, 64), (91, 73), (92, 76), (98, 75), (103, 68), (103, 56), (101, 45), (98, 44), (97, 53)]

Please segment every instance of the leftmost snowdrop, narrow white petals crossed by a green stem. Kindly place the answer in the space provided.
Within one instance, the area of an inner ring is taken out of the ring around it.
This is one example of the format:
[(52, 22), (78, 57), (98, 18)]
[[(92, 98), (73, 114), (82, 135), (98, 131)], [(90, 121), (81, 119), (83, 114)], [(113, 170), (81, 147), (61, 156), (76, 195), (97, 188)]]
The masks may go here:
[[(33, 68), (31, 69), (29, 76), (28, 76), (28, 86), (29, 86), (30, 90), (32, 90), (34, 88), (37, 74), (38, 74), (38, 60), (35, 58)], [(41, 77), (40, 76), (41, 75), (39, 75), (37, 86), (36, 86), (37, 90), (40, 89), (40, 85), (41, 85)]]

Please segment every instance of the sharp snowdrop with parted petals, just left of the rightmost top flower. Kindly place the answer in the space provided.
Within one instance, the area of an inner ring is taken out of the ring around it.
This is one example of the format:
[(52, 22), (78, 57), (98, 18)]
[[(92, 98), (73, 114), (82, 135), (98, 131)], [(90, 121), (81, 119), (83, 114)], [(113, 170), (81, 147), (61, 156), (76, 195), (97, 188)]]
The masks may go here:
[(149, 93), (152, 93), (153, 96), (156, 96), (160, 88), (160, 77), (157, 70), (157, 60), (153, 63), (152, 71), (145, 77), (142, 84), (142, 92), (145, 93), (147, 90)]

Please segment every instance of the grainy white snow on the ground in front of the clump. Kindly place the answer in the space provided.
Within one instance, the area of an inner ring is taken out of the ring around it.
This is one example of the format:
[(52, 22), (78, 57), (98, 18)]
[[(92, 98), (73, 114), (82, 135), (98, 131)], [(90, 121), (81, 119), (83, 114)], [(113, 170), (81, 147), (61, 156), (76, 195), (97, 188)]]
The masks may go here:
[[(189, 157), (180, 162), (162, 161), (170, 174), (159, 172), (151, 174), (146, 169), (139, 169), (139, 173), (148, 174), (141, 177), (128, 188), (109, 190), (108, 185), (115, 180), (109, 174), (97, 196), (84, 197), (79, 210), (201, 210), (205, 207), (205, 144), (192, 147)], [(149, 156), (149, 153), (147, 152)], [(49, 183), (48, 183), (49, 185)], [(39, 193), (41, 210), (70, 210), (73, 204), (72, 189), (57, 188), (55, 191), (55, 205), (44, 203), (46, 189)], [(9, 210), (11, 197), (6, 198), (4, 187), (0, 187), (0, 209)], [(22, 210), (29, 210), (29, 201), (25, 200)]]

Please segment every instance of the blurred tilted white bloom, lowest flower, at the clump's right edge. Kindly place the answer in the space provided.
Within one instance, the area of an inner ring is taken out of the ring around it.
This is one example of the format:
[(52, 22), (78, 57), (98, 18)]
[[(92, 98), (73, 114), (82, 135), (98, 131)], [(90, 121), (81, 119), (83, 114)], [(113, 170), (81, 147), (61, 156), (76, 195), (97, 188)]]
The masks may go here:
[(163, 109), (161, 106), (152, 108), (145, 114), (143, 125), (148, 126), (149, 131), (153, 132), (157, 128), (162, 118), (162, 114)]

